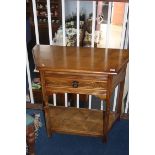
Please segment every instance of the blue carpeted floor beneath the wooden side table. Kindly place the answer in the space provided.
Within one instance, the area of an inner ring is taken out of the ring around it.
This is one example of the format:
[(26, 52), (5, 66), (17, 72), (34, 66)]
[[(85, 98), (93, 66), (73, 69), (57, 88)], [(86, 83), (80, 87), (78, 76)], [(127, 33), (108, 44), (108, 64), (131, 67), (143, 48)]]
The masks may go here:
[(41, 110), (27, 110), (33, 115), (40, 113), (42, 127), (36, 139), (36, 155), (128, 155), (129, 154), (129, 121), (116, 122), (109, 132), (107, 144), (101, 138), (53, 134), (48, 138), (45, 129), (44, 115)]

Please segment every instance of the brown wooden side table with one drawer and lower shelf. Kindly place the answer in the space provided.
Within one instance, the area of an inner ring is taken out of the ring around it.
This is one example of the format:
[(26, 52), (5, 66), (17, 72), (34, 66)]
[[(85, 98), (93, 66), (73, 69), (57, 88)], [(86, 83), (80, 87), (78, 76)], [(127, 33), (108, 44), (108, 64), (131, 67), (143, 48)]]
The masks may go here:
[[(48, 136), (54, 132), (102, 136), (120, 118), (128, 51), (119, 49), (36, 45), (34, 61), (40, 71)], [(110, 97), (120, 84), (117, 111)], [(106, 101), (105, 110), (49, 106), (52, 93), (95, 95)]]

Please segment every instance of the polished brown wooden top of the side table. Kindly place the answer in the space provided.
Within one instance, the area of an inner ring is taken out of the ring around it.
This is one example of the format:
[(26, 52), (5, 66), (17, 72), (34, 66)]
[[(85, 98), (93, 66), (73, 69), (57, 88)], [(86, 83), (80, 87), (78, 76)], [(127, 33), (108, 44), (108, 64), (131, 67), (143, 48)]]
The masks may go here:
[(99, 74), (117, 74), (129, 61), (124, 49), (52, 45), (35, 45), (33, 56), (39, 70)]

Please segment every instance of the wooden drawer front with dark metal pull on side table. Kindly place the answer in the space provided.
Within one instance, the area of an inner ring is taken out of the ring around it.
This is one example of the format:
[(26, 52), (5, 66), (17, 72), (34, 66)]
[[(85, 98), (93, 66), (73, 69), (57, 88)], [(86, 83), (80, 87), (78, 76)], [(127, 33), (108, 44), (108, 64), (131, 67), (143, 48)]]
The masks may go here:
[(48, 73), (44, 78), (47, 92), (97, 95), (107, 91), (107, 80), (101, 76)]

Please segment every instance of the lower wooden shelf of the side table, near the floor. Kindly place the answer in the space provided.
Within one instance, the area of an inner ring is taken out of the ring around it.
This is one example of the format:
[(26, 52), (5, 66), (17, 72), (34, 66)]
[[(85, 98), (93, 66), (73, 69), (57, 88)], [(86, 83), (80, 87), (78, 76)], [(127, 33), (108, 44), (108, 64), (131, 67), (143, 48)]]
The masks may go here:
[[(52, 132), (102, 136), (103, 111), (75, 107), (49, 107)], [(110, 113), (108, 130), (117, 120), (117, 113)]]

